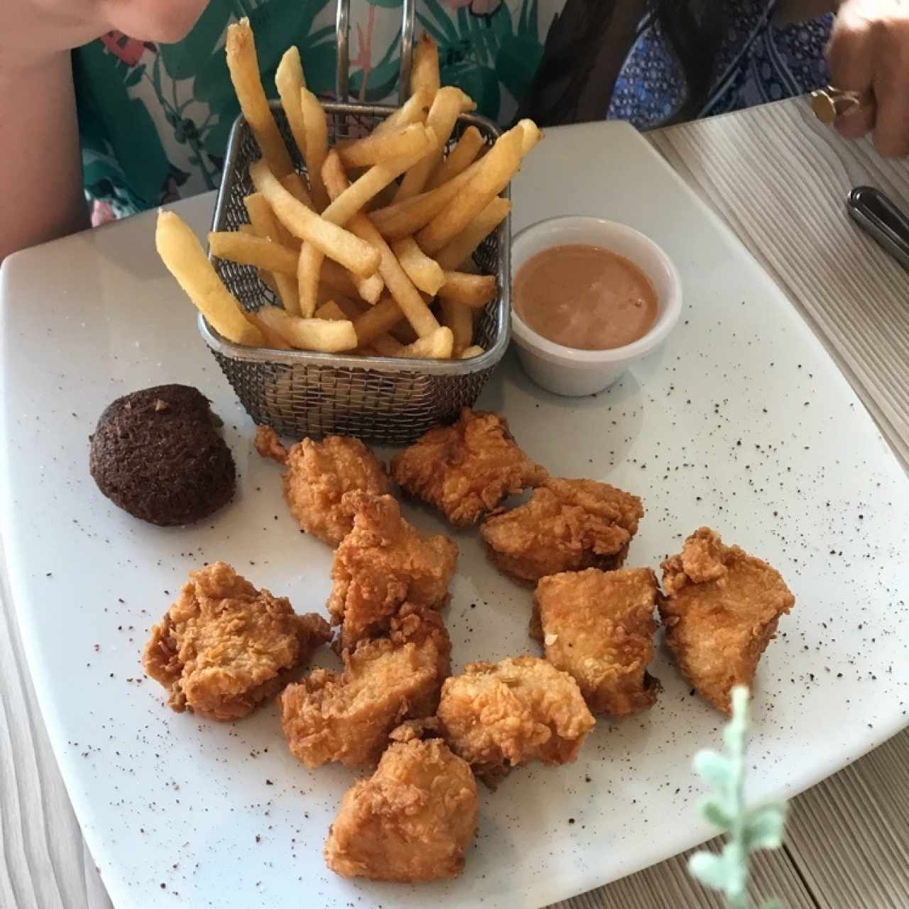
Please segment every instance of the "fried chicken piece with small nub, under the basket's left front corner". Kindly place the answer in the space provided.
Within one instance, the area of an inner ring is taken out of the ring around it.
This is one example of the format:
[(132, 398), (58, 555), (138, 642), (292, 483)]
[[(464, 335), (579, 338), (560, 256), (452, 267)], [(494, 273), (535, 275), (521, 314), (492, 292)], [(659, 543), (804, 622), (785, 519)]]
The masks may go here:
[(255, 429), (255, 450), (285, 464), (285, 500), (296, 523), (330, 546), (339, 544), (354, 526), (354, 516), (341, 503), (355, 489), (382, 495), (392, 484), (383, 464), (359, 439), (329, 435), (322, 442), (303, 439), (286, 449), (271, 426)]

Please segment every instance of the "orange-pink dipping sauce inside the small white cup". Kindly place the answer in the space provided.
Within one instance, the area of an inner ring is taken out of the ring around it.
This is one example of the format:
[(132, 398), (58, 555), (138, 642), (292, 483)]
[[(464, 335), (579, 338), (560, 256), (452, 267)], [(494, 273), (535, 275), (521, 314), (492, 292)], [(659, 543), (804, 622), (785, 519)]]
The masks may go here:
[(544, 249), (514, 278), (514, 309), (555, 344), (579, 350), (623, 347), (656, 321), (656, 294), (633, 262), (602, 246)]

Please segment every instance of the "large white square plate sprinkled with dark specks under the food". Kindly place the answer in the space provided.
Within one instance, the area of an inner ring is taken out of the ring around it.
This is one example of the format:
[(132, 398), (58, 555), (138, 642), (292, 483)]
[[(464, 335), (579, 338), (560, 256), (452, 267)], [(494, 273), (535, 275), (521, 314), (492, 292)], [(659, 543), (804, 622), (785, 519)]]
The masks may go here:
[[(633, 130), (550, 131), (514, 200), (515, 230), (601, 215), (651, 235), (681, 271), (682, 322), (611, 391), (556, 398), (508, 360), (480, 405), (507, 415), (552, 473), (643, 497), (629, 565), (657, 567), (710, 524), (784, 574), (797, 602), (758, 674), (751, 788), (794, 794), (906, 723), (907, 638), (894, 633), (909, 587), (904, 471), (784, 296)], [(212, 201), (176, 207), (202, 234)], [(307, 612), (324, 607), (330, 554), (295, 530), (278, 469), (253, 451), (248, 417), (157, 260), (154, 224), (142, 215), (2, 271), (12, 587), (48, 732), (115, 905), (536, 907), (704, 839), (690, 758), (717, 742), (721, 717), (664, 654), (653, 710), (598, 723), (576, 764), (521, 768), (484, 790), (464, 875), (421, 887), (326, 872), (325, 832), (354, 777), (297, 764), (273, 706), (237, 724), (165, 708), (139, 654), (187, 571), (225, 559)], [(167, 382), (213, 400), (241, 479), (212, 520), (163, 530), (103, 498), (87, 458), (105, 405)], [(407, 514), (445, 529), (428, 511)], [(494, 571), (475, 534), (455, 536), (455, 669), (534, 653), (529, 592)]]

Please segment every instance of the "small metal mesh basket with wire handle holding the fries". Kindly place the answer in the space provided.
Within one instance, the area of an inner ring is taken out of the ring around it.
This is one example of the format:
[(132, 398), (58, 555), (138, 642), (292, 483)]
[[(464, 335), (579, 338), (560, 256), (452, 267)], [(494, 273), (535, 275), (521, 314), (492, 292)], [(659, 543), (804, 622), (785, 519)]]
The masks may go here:
[[(339, 35), (345, 34), (346, 29), (346, 19), (341, 21), (342, 6), (345, 4), (339, 4), (339, 26), (343, 25), (343, 29), (339, 27)], [(405, 20), (406, 15), (407, 10)], [(407, 37), (407, 30), (404, 31)], [(339, 45), (345, 49), (345, 41)], [(405, 50), (409, 67), (409, 46)], [(339, 74), (342, 57), (346, 58), (346, 54), (339, 53)], [(403, 51), (403, 61), (404, 57)], [(344, 69), (346, 74), (346, 60)], [(344, 83), (339, 78), (339, 84)], [(272, 102), (272, 111), (298, 172), (305, 175), (304, 163), (281, 105)], [(371, 130), (394, 108), (325, 104), (325, 111), (329, 143), (334, 144), (350, 136), (364, 135), (365, 130)], [(487, 145), (492, 145), (499, 135), (497, 127), (484, 117), (462, 115), (449, 145), (454, 145), (469, 125), (480, 131)], [(249, 165), (259, 154), (255, 138), (241, 115), (227, 146), (213, 230), (237, 230), (247, 223), (243, 199), (253, 192)], [(504, 355), (510, 330), (510, 233), (509, 218), (474, 254), (480, 270), (485, 275), (496, 276), (496, 295), (474, 328), (474, 343), (484, 348), (484, 354), (472, 359), (397, 359), (244, 347), (218, 335), (201, 315), (199, 330), (256, 424), (274, 426), (279, 433), (295, 438), (355, 435), (386, 445), (406, 445), (431, 426), (457, 415), (462, 407), (473, 405)], [(215, 257), (212, 262), (246, 310), (255, 311), (262, 305), (278, 302), (259, 280), (254, 267)]]

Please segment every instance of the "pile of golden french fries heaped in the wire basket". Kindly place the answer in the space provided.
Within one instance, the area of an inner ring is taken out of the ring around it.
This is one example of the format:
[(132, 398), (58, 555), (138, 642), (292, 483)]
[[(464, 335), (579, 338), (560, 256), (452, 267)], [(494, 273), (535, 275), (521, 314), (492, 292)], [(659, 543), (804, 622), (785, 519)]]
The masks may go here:
[(188, 225), (158, 213), (159, 255), (208, 323), (240, 345), (434, 359), (481, 355), (474, 324), (494, 298), (474, 250), (508, 215), (499, 194), (540, 141), (522, 120), (488, 150), (470, 126), (451, 152), (458, 117), (475, 109), (439, 82), (438, 48), (415, 48), (413, 94), (370, 135), (328, 145), (325, 109), (291, 47), (275, 74), (305, 161), (295, 172), (265, 98), (252, 29), (227, 29), (227, 66), (262, 151), (250, 165), (249, 224), (208, 235), (212, 255), (253, 265), (281, 305), (248, 313), (222, 283)]

